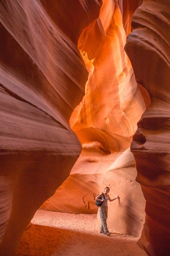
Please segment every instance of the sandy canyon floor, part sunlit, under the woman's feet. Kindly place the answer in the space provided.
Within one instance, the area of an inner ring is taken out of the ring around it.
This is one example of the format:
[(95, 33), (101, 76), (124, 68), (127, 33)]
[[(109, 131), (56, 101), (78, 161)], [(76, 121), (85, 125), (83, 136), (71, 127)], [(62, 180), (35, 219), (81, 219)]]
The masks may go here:
[(67, 214), (38, 210), (24, 232), (17, 256), (147, 256), (138, 238), (99, 233), (95, 214)]

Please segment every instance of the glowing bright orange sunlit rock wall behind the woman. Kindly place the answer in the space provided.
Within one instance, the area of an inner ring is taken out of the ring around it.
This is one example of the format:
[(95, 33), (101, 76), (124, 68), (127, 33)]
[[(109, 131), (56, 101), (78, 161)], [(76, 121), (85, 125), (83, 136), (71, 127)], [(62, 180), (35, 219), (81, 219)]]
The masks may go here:
[(70, 125), (83, 150), (68, 179), (41, 209), (97, 213), (94, 197), (109, 185), (110, 197), (120, 196), (109, 204), (109, 228), (140, 236), (145, 200), (135, 181), (135, 160), (128, 149), (145, 110), (142, 95), (148, 95), (145, 89), (139, 90), (124, 51), (127, 28), (121, 6), (126, 8), (126, 17), (128, 13), (131, 17), (127, 2), (103, 0), (99, 18), (85, 27), (78, 41), (89, 76), (85, 96)]

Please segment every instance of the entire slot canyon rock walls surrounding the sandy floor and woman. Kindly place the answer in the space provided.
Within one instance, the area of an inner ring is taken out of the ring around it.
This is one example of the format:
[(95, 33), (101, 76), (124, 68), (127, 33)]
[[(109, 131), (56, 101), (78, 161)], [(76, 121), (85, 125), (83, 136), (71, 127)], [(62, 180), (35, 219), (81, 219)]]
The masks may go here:
[(0, 256), (37, 210), (100, 223), (105, 186), (110, 229), (170, 256), (169, 5), (0, 0)]

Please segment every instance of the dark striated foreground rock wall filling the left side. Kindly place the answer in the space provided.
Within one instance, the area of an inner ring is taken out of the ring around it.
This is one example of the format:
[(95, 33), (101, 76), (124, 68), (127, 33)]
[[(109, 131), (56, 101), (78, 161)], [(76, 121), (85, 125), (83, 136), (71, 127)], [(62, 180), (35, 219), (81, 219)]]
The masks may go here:
[(1, 256), (14, 254), (81, 153), (69, 126), (88, 78), (77, 42), (100, 7), (100, 0), (0, 1)]

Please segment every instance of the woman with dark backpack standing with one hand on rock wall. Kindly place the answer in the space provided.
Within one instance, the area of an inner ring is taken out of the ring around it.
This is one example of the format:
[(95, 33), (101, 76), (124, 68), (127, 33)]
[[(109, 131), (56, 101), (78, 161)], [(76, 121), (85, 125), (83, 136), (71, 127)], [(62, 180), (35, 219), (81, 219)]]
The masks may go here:
[[(108, 213), (108, 205), (107, 205), (107, 201), (109, 200), (110, 202), (112, 202), (113, 200), (115, 200), (116, 198), (119, 198), (119, 196), (111, 199), (108, 195), (110, 189), (109, 187), (105, 187), (104, 188), (104, 193), (100, 193), (97, 197), (95, 197), (96, 200), (103, 202), (101, 206), (99, 206), (99, 212), (100, 212), (100, 217), (101, 217), (101, 230), (100, 233), (105, 234), (107, 236), (111, 235), (108, 228), (107, 228), (107, 213)], [(104, 197), (103, 197), (104, 194)], [(102, 198), (102, 199), (101, 199)]]

